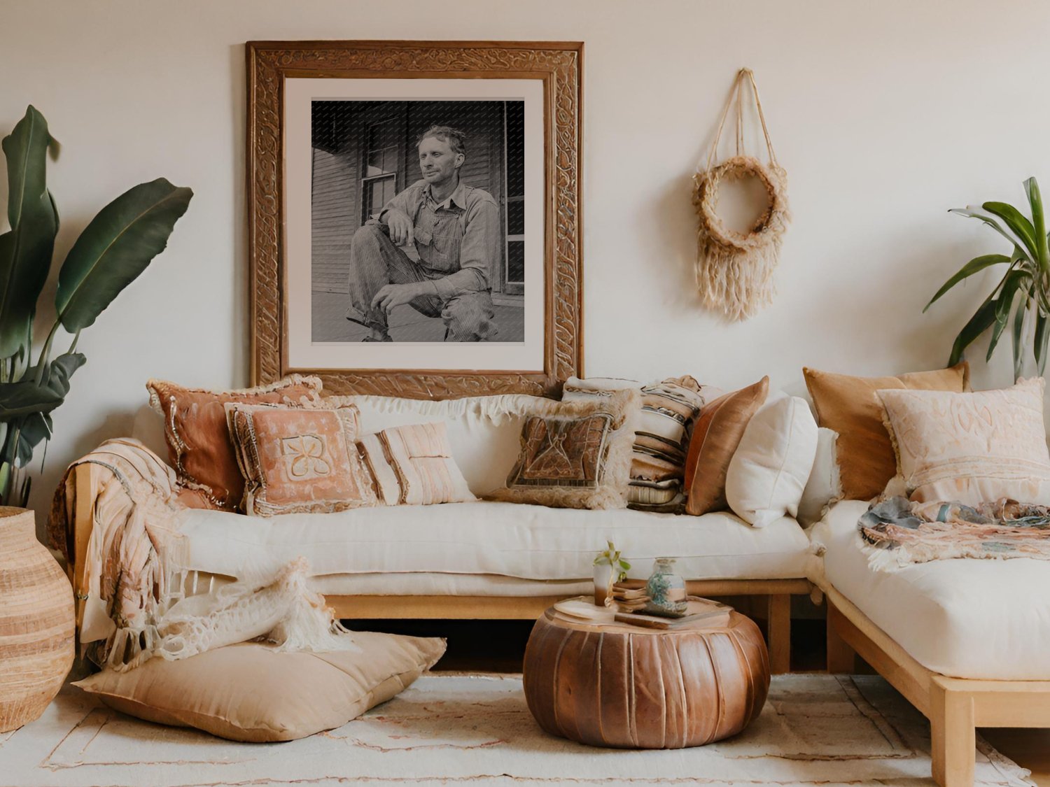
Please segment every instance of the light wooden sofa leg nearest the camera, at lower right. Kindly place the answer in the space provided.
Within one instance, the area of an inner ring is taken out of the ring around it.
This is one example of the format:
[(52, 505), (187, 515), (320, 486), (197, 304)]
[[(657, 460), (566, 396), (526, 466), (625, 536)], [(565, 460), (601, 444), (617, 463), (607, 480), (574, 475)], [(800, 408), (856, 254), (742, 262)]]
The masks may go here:
[(973, 699), (946, 688), (937, 678), (930, 682), (929, 726), (933, 781), (941, 787), (972, 787)]

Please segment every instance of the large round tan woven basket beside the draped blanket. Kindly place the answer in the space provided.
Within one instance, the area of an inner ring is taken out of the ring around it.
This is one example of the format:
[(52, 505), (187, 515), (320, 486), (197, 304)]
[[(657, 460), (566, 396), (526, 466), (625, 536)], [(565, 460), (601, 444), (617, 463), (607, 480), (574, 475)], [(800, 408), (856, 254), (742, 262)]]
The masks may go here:
[(72, 666), (72, 588), (24, 508), (0, 507), (0, 732), (39, 718)]

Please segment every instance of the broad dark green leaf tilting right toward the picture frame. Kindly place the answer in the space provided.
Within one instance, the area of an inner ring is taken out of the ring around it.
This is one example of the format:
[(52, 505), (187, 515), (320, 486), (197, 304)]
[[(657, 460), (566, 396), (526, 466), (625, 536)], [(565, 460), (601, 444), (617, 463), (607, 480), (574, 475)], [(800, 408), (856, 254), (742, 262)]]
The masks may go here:
[(140, 184), (99, 211), (62, 263), (55, 305), (70, 334), (87, 327), (158, 254), (193, 192), (163, 177)]

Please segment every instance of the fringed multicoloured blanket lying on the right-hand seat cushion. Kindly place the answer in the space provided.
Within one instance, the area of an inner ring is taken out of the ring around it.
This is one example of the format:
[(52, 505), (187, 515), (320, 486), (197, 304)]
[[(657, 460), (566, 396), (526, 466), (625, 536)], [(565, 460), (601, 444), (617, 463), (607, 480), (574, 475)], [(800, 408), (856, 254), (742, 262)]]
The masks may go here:
[(878, 571), (954, 557), (1050, 560), (1050, 507), (1000, 499), (978, 507), (889, 497), (857, 523)]

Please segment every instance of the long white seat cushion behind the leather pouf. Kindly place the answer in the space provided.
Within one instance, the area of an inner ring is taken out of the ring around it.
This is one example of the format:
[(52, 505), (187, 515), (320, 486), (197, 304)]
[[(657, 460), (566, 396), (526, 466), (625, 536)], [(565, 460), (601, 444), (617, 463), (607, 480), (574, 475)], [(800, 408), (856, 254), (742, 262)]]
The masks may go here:
[(618, 509), (553, 509), (517, 503), (359, 508), (268, 518), (182, 511), (186, 568), (236, 577), (268, 575), (299, 556), (312, 573), (450, 572), (524, 579), (580, 579), (612, 539), (649, 575), (653, 558), (678, 557), (690, 579), (805, 576), (810, 541), (781, 518), (752, 528), (729, 512), (675, 516)]

